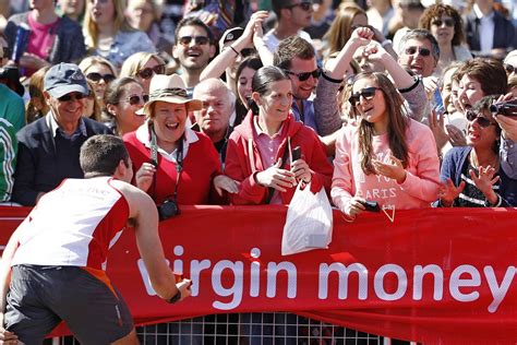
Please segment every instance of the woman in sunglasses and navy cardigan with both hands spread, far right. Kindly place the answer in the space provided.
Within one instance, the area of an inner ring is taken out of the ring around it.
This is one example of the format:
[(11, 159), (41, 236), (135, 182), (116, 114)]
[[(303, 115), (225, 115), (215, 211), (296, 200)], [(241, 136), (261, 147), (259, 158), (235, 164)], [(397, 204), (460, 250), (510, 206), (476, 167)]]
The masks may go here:
[(481, 98), (467, 111), (467, 145), (445, 155), (440, 206), (507, 207), (517, 202), (517, 180), (501, 168), (498, 147), (502, 130), (490, 111), (495, 97)]

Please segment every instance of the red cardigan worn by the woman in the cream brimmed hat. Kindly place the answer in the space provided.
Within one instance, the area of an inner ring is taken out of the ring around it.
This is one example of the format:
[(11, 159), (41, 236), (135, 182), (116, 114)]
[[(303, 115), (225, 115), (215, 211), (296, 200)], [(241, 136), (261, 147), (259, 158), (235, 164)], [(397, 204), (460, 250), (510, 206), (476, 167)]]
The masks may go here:
[[(190, 130), (187, 130), (190, 131)], [(140, 169), (144, 162), (149, 162), (151, 150), (143, 143), (148, 141), (147, 124), (144, 123), (136, 131), (127, 133), (123, 141), (131, 160), (133, 171)], [(183, 170), (178, 185), (178, 204), (219, 204), (223, 202), (217, 197), (214, 188), (214, 177), (220, 175), (220, 163), (214, 144), (203, 133), (190, 131), (185, 133), (190, 138), (187, 156), (183, 158)], [(158, 153), (158, 169), (156, 170), (156, 186), (153, 183), (147, 193), (160, 205), (167, 198), (172, 197), (177, 179), (176, 164)]]

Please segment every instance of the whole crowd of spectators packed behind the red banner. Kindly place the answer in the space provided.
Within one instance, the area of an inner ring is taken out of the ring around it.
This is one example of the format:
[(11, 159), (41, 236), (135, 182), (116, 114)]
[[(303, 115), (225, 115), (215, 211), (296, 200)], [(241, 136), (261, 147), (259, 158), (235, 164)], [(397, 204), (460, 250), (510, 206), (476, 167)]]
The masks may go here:
[(516, 205), (507, 2), (182, 2), (0, 8), (1, 202), (82, 177), (81, 144), (115, 133), (157, 206), (288, 204), (299, 183), (348, 219)]

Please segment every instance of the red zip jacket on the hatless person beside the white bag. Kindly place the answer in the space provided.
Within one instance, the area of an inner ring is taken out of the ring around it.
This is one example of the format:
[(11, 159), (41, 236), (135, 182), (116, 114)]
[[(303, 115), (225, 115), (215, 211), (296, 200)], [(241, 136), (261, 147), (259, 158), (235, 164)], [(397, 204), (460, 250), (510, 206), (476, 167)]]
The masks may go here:
[[(302, 157), (311, 169), (311, 190), (315, 193), (320, 191), (323, 186), (328, 193), (333, 167), (327, 160), (325, 150), (316, 133), (302, 122), (294, 121), (292, 115), (289, 115), (287, 120), (284, 121), (281, 135), (282, 141), (278, 147), (275, 160), (284, 157), (284, 152), (288, 146), (287, 138), (290, 138), (291, 147), (301, 147)], [(255, 169), (251, 168), (249, 141), (252, 142)], [(289, 160), (284, 162), (282, 168), (289, 169)], [(249, 112), (242, 123), (236, 127), (228, 140), (225, 175), (241, 182), (239, 193), (230, 194), (231, 203), (265, 204), (267, 202), (268, 188), (256, 183), (254, 175), (267, 168), (268, 167), (263, 166), (261, 154), (253, 140), (253, 115)], [(255, 174), (253, 174), (253, 170), (255, 170)], [(285, 204), (291, 201), (294, 190), (296, 188), (293, 187), (280, 193)]]

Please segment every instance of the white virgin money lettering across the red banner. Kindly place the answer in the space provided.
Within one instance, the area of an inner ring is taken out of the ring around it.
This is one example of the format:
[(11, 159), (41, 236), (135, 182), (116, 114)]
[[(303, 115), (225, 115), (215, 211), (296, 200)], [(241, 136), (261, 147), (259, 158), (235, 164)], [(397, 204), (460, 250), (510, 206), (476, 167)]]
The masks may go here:
[[(190, 263), (182, 260), (184, 249), (182, 246), (176, 246), (173, 253), (173, 267), (176, 273), (188, 272), (192, 279), (192, 296), (199, 296), (201, 288), (211, 287), (214, 294), (218, 297), (228, 298), (228, 300), (214, 300), (212, 304), (215, 309), (231, 310), (238, 308), (244, 298), (244, 283), (249, 281), (250, 289), (249, 297), (267, 297), (267, 298), (296, 298), (298, 294), (298, 272), (294, 263), (289, 261), (281, 262), (261, 262), (261, 250), (252, 248), (250, 250), (250, 266), (243, 261), (219, 260), (212, 262), (208, 259), (191, 260)], [(167, 261), (167, 264), (169, 262)], [(435, 301), (444, 299), (444, 290), (448, 288), (450, 297), (459, 302), (471, 302), (480, 298), (481, 285), (486, 282), (490, 290), (492, 301), (488, 306), (488, 311), (494, 313), (497, 311), (501, 304), (504, 301), (514, 277), (517, 274), (517, 267), (507, 266), (504, 276), (498, 281), (495, 276), (495, 270), (491, 265), (485, 265), (480, 272), (476, 266), (462, 264), (453, 270), (450, 275), (445, 276), (443, 269), (433, 263), (426, 265), (414, 265), (412, 269), (402, 267), (398, 264), (387, 263), (378, 267), (376, 271), (369, 270), (360, 262), (352, 262), (344, 264), (341, 262), (332, 263), (314, 263), (318, 264), (317, 271), (317, 298), (320, 300), (337, 299), (345, 300), (349, 298), (357, 298), (365, 300), (369, 298), (369, 290), (374, 293), (370, 298), (378, 298), (382, 300), (399, 300), (402, 298), (410, 298), (412, 300), (423, 300), (424, 296), (431, 296)], [(190, 270), (185, 270), (190, 265)], [(137, 260), (137, 267), (142, 275), (145, 289), (149, 296), (155, 296), (147, 271), (142, 259)], [(207, 271), (208, 274), (201, 274)], [(447, 271), (448, 272), (448, 271)], [(497, 272), (502, 272), (500, 267)], [(287, 275), (287, 294), (277, 296), (277, 281), (278, 275)], [(393, 287), (385, 288), (385, 281), (387, 276), (393, 276)], [(408, 276), (412, 277), (408, 282)], [(201, 279), (209, 278), (211, 282)], [(261, 290), (261, 279), (266, 279), (266, 290)], [(329, 288), (329, 282), (338, 279), (336, 285)], [(370, 281), (369, 281), (370, 278)], [(432, 279), (432, 281), (431, 281)], [(372, 287), (369, 286), (373, 283)], [(424, 282), (426, 284), (424, 284)], [(412, 283), (409, 287), (409, 283)], [(304, 285), (310, 285), (310, 282), (303, 282)], [(351, 284), (357, 284), (357, 297), (349, 296)], [(448, 286), (446, 286), (446, 284)], [(334, 287), (337, 286), (337, 287)], [(333, 290), (337, 288), (337, 292)], [(429, 289), (429, 290), (426, 290)], [(330, 294), (329, 294), (330, 293)], [(425, 293), (425, 294), (424, 294)], [(429, 297), (430, 298), (430, 297)]]

